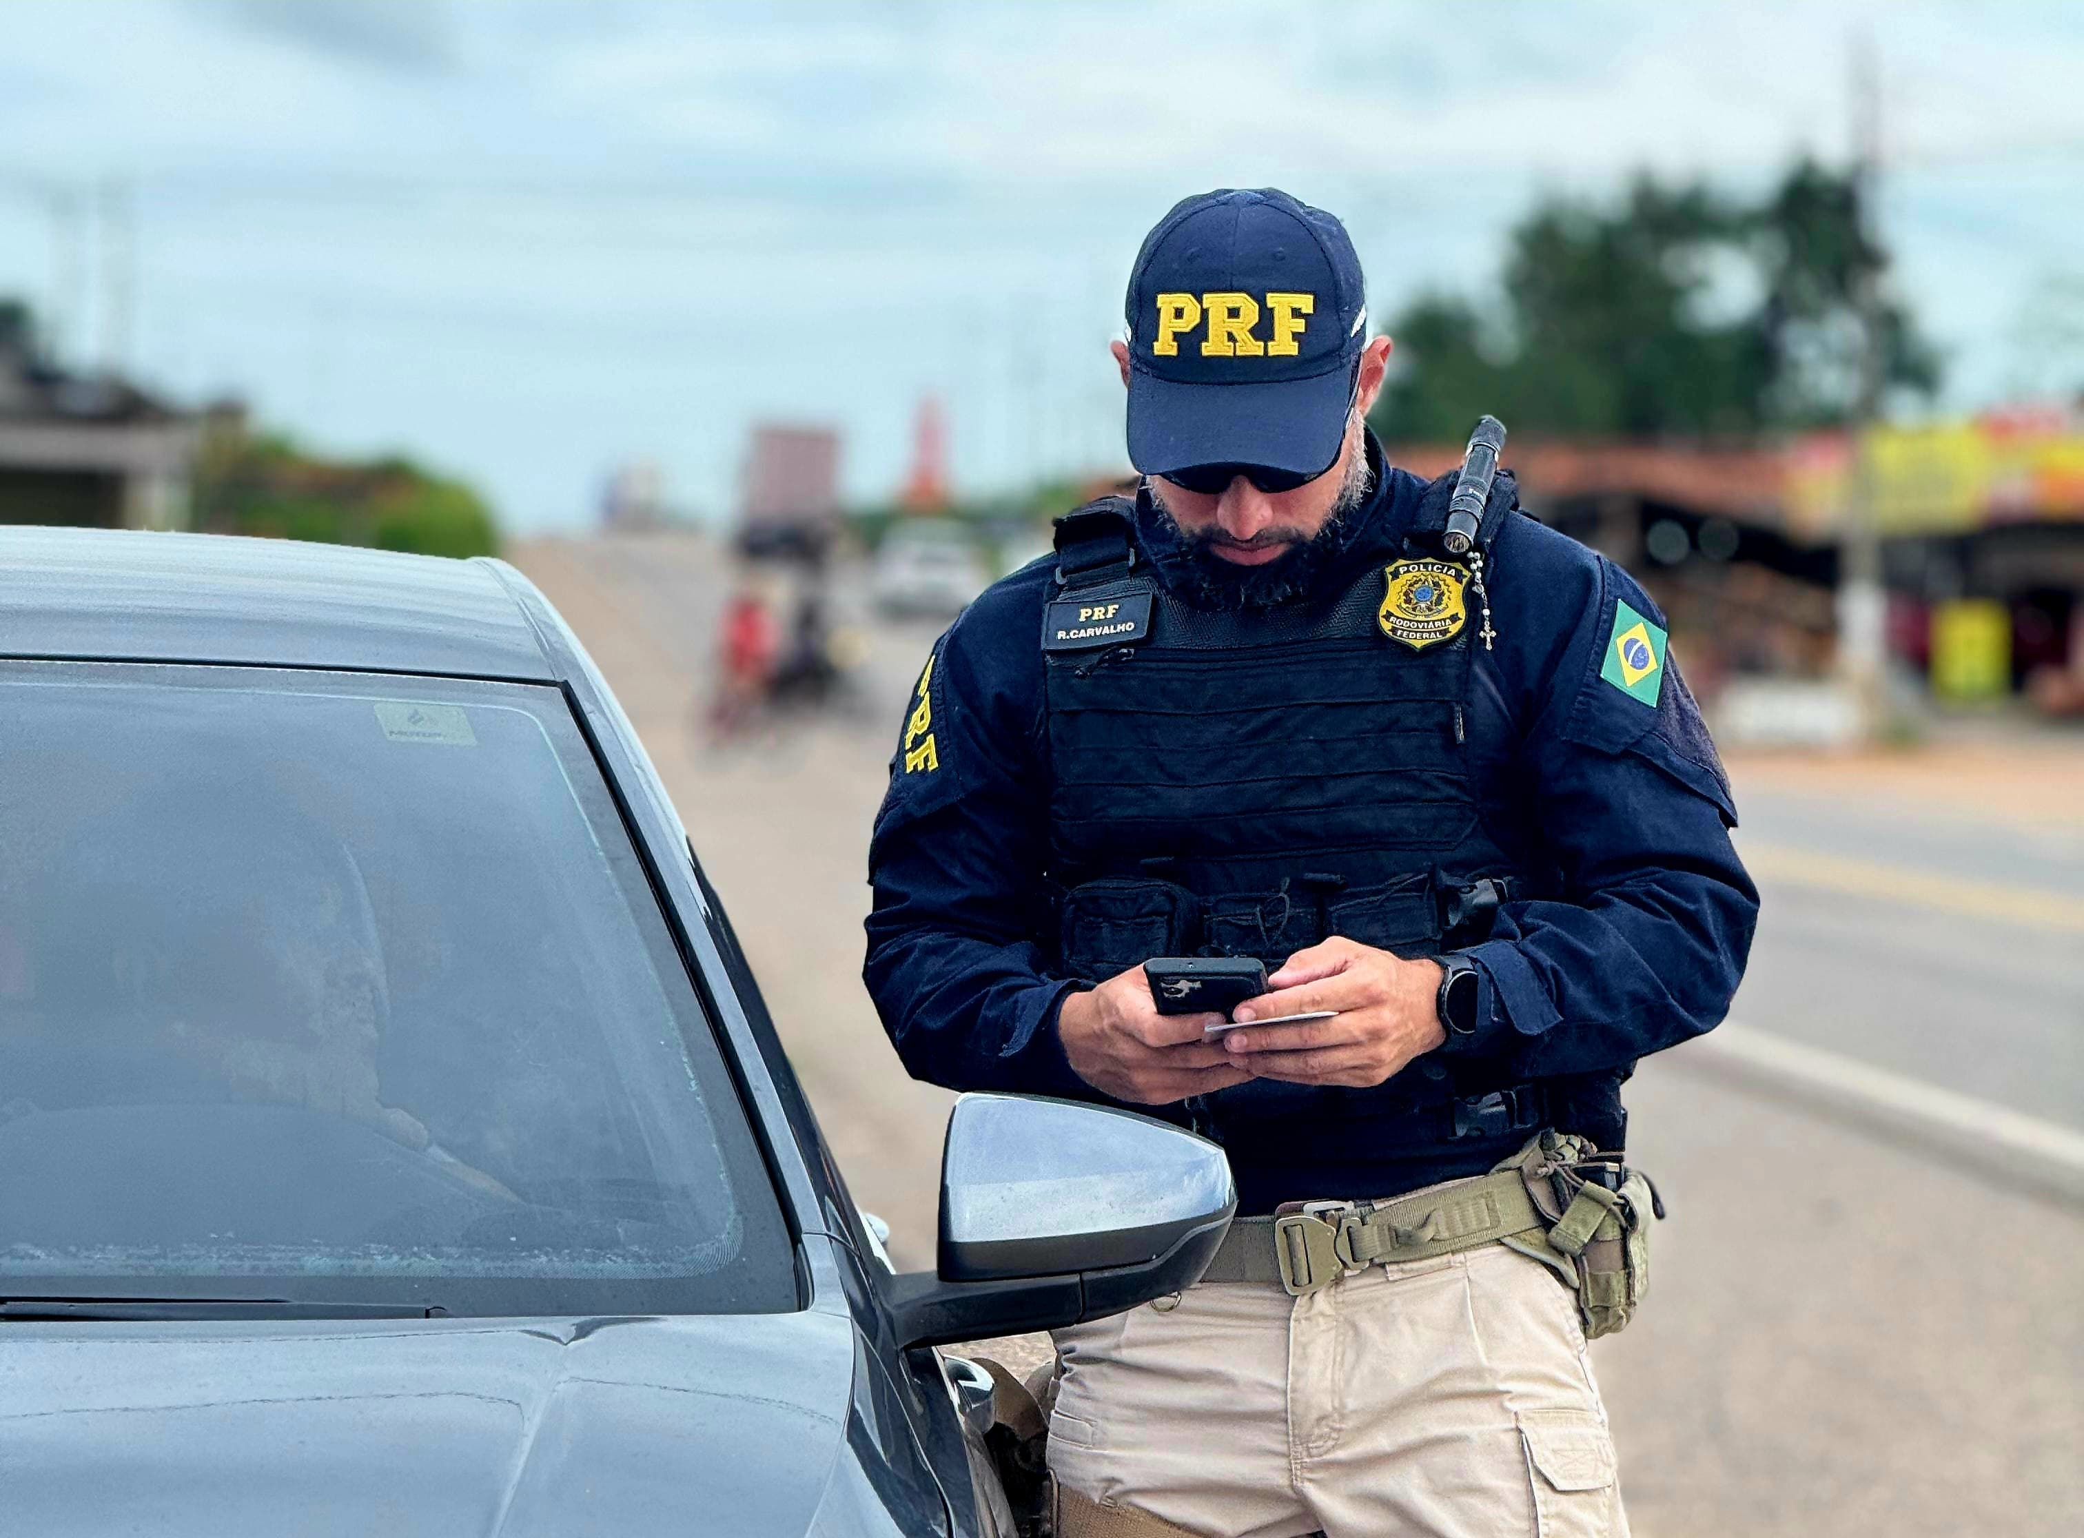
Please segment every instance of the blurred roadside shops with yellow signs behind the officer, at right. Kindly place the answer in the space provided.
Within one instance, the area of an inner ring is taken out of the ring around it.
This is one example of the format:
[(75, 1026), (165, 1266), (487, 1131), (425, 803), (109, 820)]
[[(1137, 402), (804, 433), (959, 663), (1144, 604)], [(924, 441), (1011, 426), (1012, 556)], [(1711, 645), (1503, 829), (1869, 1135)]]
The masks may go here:
[[(1459, 446), (1390, 458), (1421, 475)], [(1846, 433), (1786, 444), (1511, 442), (1525, 506), (1628, 567), (1671, 617), (1705, 698), (1732, 679), (1824, 679), (1838, 550), (1861, 456)], [(1944, 700), (2013, 692), (2084, 713), (2084, 421), (1988, 413), (1867, 440), (1888, 644)]]

